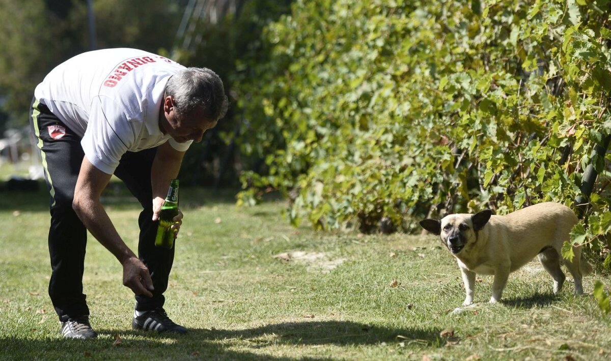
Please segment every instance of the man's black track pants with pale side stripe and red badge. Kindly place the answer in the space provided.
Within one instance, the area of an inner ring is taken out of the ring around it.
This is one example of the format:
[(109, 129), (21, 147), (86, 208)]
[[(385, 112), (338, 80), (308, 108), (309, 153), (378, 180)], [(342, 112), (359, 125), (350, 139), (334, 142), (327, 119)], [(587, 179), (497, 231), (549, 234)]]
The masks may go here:
[[(76, 179), (84, 152), (81, 138), (37, 100), (32, 102), (30, 123), (51, 196), (48, 242), (53, 271), (49, 281), (49, 296), (59, 319), (66, 321), (68, 318), (89, 315), (86, 295), (82, 293), (87, 229), (72, 209)], [(136, 296), (136, 309), (139, 311), (163, 306), (163, 293), (167, 289), (167, 280), (174, 262), (174, 248), (168, 250), (155, 247), (157, 223), (151, 220), (153, 198), (150, 177), (155, 152), (154, 148), (127, 152), (114, 173), (142, 205), (138, 220), (138, 257), (148, 267), (155, 291), (152, 298)], [(116, 278), (117, 282), (121, 282), (121, 271), (117, 272)]]

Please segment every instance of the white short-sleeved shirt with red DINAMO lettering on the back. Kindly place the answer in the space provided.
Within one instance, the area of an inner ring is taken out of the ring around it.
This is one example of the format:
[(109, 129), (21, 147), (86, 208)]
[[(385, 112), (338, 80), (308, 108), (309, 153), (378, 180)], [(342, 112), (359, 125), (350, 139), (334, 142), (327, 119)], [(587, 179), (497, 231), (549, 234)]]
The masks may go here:
[(159, 129), (159, 107), (167, 80), (184, 66), (137, 49), (85, 52), (61, 63), (34, 90), (76, 135), (87, 159), (106, 174), (114, 173), (121, 156), (170, 142), (186, 151), (192, 141), (178, 143)]

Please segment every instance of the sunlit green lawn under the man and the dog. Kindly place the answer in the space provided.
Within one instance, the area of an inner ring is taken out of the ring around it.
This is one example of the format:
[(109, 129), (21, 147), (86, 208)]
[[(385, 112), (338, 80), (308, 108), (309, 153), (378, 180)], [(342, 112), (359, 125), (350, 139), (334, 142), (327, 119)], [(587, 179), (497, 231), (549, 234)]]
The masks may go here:
[[(500, 304), (464, 299), (458, 267), (432, 236), (320, 233), (288, 226), (282, 201), (235, 207), (232, 193), (181, 188), (185, 223), (166, 310), (186, 336), (132, 331), (134, 299), (119, 263), (87, 247), (84, 288), (95, 340), (64, 340), (46, 294), (48, 196), (0, 195), (0, 359), (606, 359), (609, 317), (567, 280), (532, 262), (512, 274)], [(137, 205), (119, 189), (104, 198), (136, 249)], [(302, 252), (301, 254), (295, 252)], [(284, 260), (285, 252), (294, 257)]]

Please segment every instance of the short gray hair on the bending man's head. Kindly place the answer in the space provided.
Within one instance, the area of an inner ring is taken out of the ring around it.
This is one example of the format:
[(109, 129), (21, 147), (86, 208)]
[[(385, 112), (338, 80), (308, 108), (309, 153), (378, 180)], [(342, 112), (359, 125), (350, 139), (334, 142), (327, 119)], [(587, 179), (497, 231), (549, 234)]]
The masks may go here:
[(208, 68), (186, 68), (174, 74), (167, 80), (164, 96), (168, 95), (174, 98), (179, 115), (202, 107), (203, 116), (213, 121), (225, 116), (229, 105), (221, 77)]

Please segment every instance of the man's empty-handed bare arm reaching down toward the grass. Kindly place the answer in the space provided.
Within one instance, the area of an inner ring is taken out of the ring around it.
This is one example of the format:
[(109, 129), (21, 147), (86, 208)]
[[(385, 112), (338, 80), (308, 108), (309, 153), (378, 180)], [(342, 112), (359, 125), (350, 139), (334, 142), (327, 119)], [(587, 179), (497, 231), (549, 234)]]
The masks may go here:
[(98, 170), (84, 157), (76, 180), (72, 207), (93, 237), (111, 251), (123, 266), (123, 285), (131, 288), (136, 295), (152, 297), (153, 281), (147, 267), (125, 245), (101, 205), (101, 193), (110, 179), (111, 174)]

